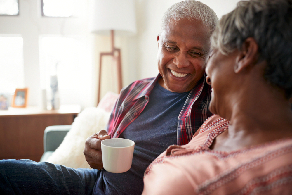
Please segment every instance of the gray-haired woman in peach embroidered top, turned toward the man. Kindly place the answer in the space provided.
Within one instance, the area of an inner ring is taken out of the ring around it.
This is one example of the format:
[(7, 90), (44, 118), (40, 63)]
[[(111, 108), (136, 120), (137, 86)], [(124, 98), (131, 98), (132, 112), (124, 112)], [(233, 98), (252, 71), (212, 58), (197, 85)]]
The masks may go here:
[(215, 115), (150, 164), (143, 194), (292, 194), (292, 1), (240, 1), (211, 46)]

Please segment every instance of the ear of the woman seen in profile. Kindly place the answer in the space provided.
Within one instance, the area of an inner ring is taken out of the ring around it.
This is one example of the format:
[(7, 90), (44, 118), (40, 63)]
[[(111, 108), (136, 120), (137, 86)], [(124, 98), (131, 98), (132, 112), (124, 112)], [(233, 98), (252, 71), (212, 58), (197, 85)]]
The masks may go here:
[(258, 60), (258, 44), (253, 37), (248, 37), (242, 44), (241, 51), (236, 59), (234, 72), (239, 73), (249, 65), (253, 65)]

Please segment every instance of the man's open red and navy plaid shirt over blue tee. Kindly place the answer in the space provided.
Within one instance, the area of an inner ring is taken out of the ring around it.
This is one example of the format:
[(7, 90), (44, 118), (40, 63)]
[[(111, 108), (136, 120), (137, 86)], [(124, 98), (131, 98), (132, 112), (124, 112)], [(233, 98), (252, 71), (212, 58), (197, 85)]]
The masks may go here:
[[(117, 138), (143, 111), (149, 101), (149, 94), (161, 77), (142, 79), (124, 87), (114, 105), (107, 125), (111, 138)], [(192, 89), (178, 116), (177, 145), (185, 145), (203, 122), (212, 114), (209, 111), (211, 87), (205, 81), (205, 75)]]

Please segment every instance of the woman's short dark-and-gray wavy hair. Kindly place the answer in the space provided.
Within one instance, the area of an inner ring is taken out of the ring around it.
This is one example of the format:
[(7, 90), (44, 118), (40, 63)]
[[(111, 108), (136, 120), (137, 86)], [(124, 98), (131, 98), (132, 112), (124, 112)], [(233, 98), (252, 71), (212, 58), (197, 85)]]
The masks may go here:
[(240, 1), (224, 15), (211, 37), (211, 47), (227, 55), (241, 50), (248, 37), (258, 43), (265, 60), (265, 79), (292, 94), (292, 0)]

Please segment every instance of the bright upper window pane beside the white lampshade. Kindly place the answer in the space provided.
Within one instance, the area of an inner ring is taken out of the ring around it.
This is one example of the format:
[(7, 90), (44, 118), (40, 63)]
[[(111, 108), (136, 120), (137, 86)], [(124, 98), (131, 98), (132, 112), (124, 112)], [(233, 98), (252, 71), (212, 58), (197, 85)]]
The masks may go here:
[(69, 17), (74, 13), (74, 0), (42, 0), (42, 15), (50, 17)]

